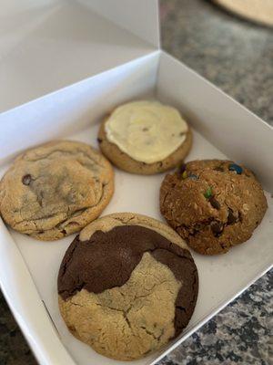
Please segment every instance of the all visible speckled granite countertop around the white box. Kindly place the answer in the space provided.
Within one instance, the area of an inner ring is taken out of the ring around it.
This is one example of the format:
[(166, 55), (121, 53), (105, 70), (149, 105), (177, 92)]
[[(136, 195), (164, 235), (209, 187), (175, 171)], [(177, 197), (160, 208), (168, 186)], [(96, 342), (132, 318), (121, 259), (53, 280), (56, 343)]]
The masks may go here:
[[(206, 0), (163, 0), (160, 7), (162, 47), (273, 125), (273, 31)], [(160, 364), (273, 364), (272, 288), (273, 270)], [(0, 365), (34, 364), (0, 293)]]

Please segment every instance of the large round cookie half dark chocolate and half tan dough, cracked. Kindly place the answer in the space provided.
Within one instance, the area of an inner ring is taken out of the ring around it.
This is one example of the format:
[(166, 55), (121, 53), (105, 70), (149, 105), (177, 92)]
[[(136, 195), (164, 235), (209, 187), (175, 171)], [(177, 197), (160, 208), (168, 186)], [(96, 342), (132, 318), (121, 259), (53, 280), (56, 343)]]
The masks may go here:
[(139, 214), (111, 214), (87, 225), (58, 275), (67, 327), (116, 360), (143, 357), (177, 337), (197, 289), (197, 267), (181, 237)]

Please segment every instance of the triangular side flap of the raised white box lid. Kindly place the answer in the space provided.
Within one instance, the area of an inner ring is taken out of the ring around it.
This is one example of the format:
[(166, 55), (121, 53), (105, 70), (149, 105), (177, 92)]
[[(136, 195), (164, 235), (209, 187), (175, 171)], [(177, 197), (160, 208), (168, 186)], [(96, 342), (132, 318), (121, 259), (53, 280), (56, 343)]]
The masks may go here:
[(80, 0), (96, 13), (134, 33), (154, 47), (160, 46), (157, 0)]

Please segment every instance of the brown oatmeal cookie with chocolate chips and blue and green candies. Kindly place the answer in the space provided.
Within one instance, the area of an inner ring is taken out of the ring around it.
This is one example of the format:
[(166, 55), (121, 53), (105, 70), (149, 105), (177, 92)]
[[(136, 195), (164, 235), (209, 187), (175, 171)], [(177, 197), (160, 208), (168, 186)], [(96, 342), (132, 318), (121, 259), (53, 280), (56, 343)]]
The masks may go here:
[(247, 241), (267, 207), (254, 174), (230, 161), (188, 162), (168, 174), (160, 190), (167, 223), (203, 255)]

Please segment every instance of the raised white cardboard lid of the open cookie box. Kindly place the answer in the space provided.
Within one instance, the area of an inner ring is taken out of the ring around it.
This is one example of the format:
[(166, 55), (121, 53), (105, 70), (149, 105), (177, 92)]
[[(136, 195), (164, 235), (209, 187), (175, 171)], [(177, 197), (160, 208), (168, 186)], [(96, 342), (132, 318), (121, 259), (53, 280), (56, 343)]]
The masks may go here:
[(0, 112), (159, 47), (157, 0), (0, 4)]

